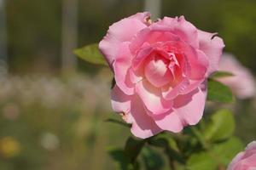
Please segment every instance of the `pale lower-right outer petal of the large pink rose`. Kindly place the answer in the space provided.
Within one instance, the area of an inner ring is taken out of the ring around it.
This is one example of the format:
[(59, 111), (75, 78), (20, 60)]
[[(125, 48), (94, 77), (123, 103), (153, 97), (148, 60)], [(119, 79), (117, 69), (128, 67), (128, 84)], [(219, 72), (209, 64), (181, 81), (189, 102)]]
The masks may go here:
[(207, 90), (204, 84), (189, 94), (179, 95), (173, 102), (173, 110), (182, 117), (185, 124), (195, 125), (201, 120), (205, 103), (207, 99)]

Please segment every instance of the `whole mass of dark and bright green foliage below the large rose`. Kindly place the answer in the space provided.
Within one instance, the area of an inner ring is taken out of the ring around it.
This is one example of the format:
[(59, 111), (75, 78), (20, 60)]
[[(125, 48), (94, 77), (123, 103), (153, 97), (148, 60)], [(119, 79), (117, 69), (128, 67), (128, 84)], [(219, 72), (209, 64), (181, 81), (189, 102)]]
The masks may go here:
[(115, 160), (119, 162), (120, 169), (136, 169), (138, 165), (149, 170), (162, 169), (164, 159), (159, 152), (152, 150), (154, 146), (168, 157), (172, 169), (224, 169), (243, 149), (241, 141), (232, 136), (234, 130), (233, 113), (220, 110), (212, 114), (204, 127), (201, 124), (186, 127), (180, 134), (164, 132), (145, 140), (130, 137), (126, 141), (125, 150), (116, 151), (116, 155), (120, 156)]

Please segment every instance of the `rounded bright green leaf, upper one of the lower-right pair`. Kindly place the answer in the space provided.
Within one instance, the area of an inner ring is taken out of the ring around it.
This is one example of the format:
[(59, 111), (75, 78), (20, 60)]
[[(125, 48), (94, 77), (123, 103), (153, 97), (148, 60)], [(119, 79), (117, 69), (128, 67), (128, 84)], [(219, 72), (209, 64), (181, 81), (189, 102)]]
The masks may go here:
[(235, 130), (235, 119), (231, 111), (221, 110), (212, 115), (204, 131), (208, 141), (219, 141), (230, 138)]

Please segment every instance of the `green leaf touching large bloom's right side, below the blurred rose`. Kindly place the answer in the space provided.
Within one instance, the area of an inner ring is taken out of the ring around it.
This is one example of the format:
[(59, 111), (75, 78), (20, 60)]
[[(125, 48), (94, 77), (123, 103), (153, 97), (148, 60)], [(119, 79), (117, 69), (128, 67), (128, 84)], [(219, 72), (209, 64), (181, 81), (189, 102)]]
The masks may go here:
[(212, 79), (209, 79), (208, 81), (207, 99), (224, 103), (234, 101), (234, 97), (230, 91), (230, 88), (225, 86), (223, 83), (214, 81)]

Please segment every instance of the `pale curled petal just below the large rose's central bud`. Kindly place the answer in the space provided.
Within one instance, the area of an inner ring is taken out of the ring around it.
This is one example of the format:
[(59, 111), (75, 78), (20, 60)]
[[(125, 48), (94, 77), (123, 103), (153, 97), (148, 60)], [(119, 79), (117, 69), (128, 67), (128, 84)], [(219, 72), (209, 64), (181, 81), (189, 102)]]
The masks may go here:
[(137, 83), (136, 92), (148, 111), (155, 115), (163, 114), (172, 108), (172, 100), (163, 99), (160, 88), (155, 88), (146, 79)]

